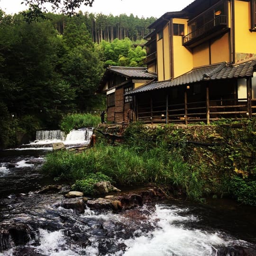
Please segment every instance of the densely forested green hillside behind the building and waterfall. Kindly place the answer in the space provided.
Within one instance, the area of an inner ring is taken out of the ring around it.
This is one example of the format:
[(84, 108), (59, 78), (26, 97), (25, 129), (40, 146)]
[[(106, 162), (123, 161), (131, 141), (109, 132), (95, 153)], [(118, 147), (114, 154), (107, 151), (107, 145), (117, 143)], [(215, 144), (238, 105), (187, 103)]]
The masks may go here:
[(145, 19), (143, 27), (134, 18), (132, 32), (121, 23), (125, 15), (113, 23), (102, 18), (48, 13), (27, 23), (0, 10), (0, 147), (18, 131), (57, 128), (67, 113), (105, 109), (105, 98), (95, 94), (104, 68), (143, 65), (146, 50), (127, 36), (142, 38)]

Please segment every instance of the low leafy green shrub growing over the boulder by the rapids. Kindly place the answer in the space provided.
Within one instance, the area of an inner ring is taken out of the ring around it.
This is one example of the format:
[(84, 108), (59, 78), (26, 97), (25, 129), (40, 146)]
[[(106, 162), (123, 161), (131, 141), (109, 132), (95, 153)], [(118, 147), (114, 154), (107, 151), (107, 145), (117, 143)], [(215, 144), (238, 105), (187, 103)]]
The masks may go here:
[(94, 184), (101, 181), (112, 182), (112, 179), (102, 173), (89, 174), (86, 179), (77, 180), (71, 188), (84, 194), (92, 195), (95, 192)]

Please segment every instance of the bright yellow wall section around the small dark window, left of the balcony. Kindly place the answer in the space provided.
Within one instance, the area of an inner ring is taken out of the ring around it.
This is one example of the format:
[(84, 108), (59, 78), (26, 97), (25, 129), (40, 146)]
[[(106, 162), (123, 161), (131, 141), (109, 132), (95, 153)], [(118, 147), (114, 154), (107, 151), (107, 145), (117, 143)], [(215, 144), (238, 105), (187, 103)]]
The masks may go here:
[[(184, 24), (184, 34), (188, 32), (187, 19), (173, 18), (173, 23)], [(193, 55), (182, 45), (182, 37), (174, 36), (174, 78), (187, 73), (193, 68)]]

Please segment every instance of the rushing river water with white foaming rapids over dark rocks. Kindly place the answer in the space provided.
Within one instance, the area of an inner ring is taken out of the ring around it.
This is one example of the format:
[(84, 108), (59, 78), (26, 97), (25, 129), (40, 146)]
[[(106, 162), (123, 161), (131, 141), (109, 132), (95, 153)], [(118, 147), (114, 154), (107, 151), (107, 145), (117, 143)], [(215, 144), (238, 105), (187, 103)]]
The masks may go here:
[[(88, 142), (88, 131), (76, 133), (66, 146)], [(68, 186), (37, 193), (53, 184), (40, 173), (52, 149), (43, 139), (0, 152), (0, 256), (256, 256), (256, 209), (230, 201), (64, 209)]]

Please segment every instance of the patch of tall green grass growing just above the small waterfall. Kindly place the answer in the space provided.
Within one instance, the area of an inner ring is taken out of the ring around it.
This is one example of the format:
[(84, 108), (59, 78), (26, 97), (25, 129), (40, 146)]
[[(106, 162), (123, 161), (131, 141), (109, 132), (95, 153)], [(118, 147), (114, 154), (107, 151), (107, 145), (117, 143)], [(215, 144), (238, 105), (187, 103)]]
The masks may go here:
[(60, 123), (60, 128), (66, 134), (72, 129), (82, 127), (96, 127), (101, 122), (99, 115), (91, 114), (72, 114), (65, 116)]

